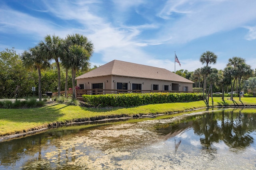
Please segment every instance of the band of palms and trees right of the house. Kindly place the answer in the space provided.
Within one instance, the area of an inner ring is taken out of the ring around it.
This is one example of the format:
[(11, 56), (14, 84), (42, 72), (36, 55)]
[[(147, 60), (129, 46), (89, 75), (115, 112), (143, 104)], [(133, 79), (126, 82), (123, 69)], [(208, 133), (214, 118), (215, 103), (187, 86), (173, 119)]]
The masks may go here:
[[(176, 74), (195, 82), (194, 87), (202, 88), (204, 100), (209, 103), (209, 96), (213, 92), (231, 92), (230, 100), (233, 100), (233, 92), (240, 94), (241, 91), (256, 94), (256, 69), (253, 70), (246, 60), (241, 57), (232, 57), (223, 70), (212, 68), (209, 64), (215, 64), (217, 55), (211, 51), (206, 51), (200, 56), (200, 62), (206, 64), (197, 68), (193, 72), (188, 70), (178, 70)], [(240, 95), (238, 95), (239, 100)], [(213, 101), (213, 100), (212, 100)]]

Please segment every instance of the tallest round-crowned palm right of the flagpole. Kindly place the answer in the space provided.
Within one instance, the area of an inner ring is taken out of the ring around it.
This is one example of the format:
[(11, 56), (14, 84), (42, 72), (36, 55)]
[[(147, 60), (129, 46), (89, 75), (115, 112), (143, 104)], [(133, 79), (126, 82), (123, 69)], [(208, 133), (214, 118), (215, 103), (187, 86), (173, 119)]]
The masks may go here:
[[(200, 57), (200, 62), (202, 64), (206, 63), (206, 67), (208, 67), (208, 64), (215, 64), (217, 61), (217, 55), (215, 55), (213, 52), (211, 51), (206, 51), (204, 53), (202, 53), (201, 57)], [(204, 92), (206, 93), (206, 76), (207, 74), (204, 74), (204, 87), (203, 87), (203, 96), (204, 96)], [(205, 100), (207, 100), (205, 98)]]

